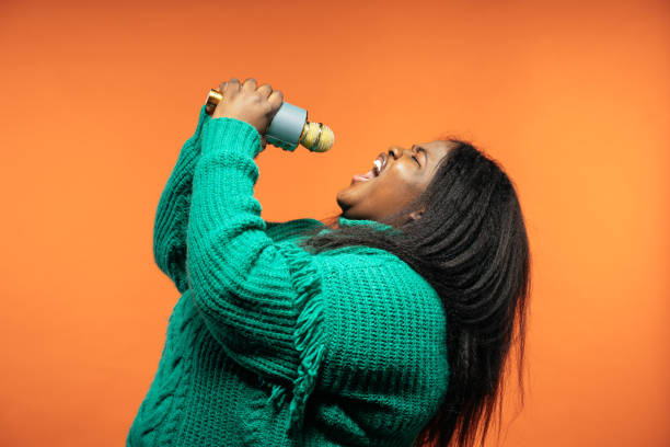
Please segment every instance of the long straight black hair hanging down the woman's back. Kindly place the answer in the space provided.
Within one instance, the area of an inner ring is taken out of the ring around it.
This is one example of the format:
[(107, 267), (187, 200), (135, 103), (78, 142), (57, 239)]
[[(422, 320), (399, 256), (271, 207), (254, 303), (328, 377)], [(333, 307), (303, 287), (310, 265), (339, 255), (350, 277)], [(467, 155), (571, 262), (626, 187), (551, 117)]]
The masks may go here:
[[(513, 183), (497, 161), (454, 138), (428, 187), (383, 222), (310, 234), (312, 252), (345, 245), (386, 250), (419, 273), (439, 294), (447, 313), (449, 387), (443, 404), (415, 446), (473, 446), (486, 437), (501, 398), (507, 359), (518, 348), (523, 399), (523, 351), (530, 297), (530, 249)], [(420, 210), (420, 218), (406, 219)], [(498, 427), (499, 428), (499, 427)], [(499, 433), (499, 432), (498, 432)]]

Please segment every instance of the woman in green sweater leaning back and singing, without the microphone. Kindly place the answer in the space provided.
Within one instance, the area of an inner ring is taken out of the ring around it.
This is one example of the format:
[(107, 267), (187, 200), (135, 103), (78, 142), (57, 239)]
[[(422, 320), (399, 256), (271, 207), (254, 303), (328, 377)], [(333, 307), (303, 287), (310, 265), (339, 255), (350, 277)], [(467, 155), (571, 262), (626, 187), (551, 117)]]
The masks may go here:
[(530, 257), (507, 175), (458, 140), (393, 147), (338, 193), (336, 222), (265, 222), (254, 158), (281, 92), (221, 92), (159, 202), (155, 261), (182, 297), (127, 445), (485, 435), (515, 337), (523, 358)]

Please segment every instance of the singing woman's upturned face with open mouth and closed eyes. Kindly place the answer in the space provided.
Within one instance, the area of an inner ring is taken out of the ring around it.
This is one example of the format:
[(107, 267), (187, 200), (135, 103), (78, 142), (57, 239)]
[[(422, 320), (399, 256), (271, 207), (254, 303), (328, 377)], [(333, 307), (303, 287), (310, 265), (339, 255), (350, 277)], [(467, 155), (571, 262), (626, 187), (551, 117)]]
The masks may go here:
[(337, 193), (342, 215), (348, 219), (381, 221), (400, 211), (428, 186), (451, 145), (436, 140), (409, 149), (392, 146), (388, 152), (380, 153), (379, 174), (373, 167), (367, 174), (354, 175), (349, 186)]

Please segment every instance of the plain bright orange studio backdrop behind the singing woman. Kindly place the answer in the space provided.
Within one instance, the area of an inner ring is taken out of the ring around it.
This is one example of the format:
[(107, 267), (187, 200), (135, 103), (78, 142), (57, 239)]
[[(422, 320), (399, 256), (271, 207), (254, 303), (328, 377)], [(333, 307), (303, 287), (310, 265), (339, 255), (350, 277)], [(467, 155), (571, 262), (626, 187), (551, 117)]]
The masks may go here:
[(155, 207), (234, 76), (336, 135), (259, 156), (268, 220), (336, 214), (393, 144), (507, 169), (533, 297), (500, 445), (670, 445), (669, 3), (0, 3), (0, 444), (124, 445), (178, 299)]

